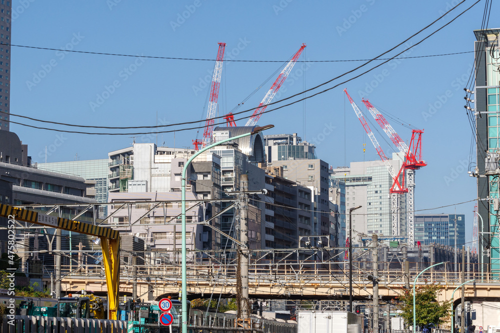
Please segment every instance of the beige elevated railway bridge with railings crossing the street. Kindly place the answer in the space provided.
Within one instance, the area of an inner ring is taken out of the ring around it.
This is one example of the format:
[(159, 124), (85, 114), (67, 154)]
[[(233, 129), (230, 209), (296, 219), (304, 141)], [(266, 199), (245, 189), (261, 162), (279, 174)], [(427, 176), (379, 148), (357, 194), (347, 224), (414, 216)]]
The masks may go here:
[[(338, 250), (338, 249), (337, 249)], [(318, 256), (324, 249), (309, 255), (308, 260), (268, 260), (269, 253), (277, 250), (257, 250), (252, 252), (254, 260), (249, 265), (249, 295), (253, 299), (288, 299), (288, 300), (348, 300), (349, 279), (348, 262), (336, 262), (330, 256)], [(283, 253), (286, 250), (282, 250)], [(310, 254), (310, 250), (303, 250)], [(369, 251), (366, 250), (366, 251)], [(77, 252), (77, 251), (76, 251)], [(288, 251), (290, 253), (292, 251)], [(283, 254), (281, 253), (281, 254)], [(144, 265), (131, 265), (123, 262), (120, 266), (120, 295), (159, 300), (165, 296), (177, 297), (181, 290), (180, 254), (168, 251), (158, 254), (136, 254), (143, 258)], [(206, 258), (198, 258), (204, 255)], [(232, 298), (236, 295), (236, 260), (216, 259), (215, 254), (189, 252), (187, 263), (187, 294), (189, 299), (214, 297)], [(285, 257), (285, 256), (281, 256)], [(328, 257), (328, 259), (323, 259)], [(158, 258), (162, 258), (159, 260)], [(194, 259), (196, 258), (196, 259)], [(361, 257), (360, 257), (361, 258)], [(131, 262), (128, 258), (126, 262)], [(404, 270), (404, 264), (380, 262), (378, 271), (378, 293), (382, 300), (395, 300), (403, 294), (404, 288), (412, 288), (415, 277), (433, 263), (410, 263)], [(353, 262), (353, 297), (354, 300), (368, 300), (372, 295), (373, 277), (370, 262)], [(439, 300), (451, 299), (453, 290), (462, 283), (460, 273), (450, 271), (452, 265), (440, 265), (421, 274), (416, 285), (436, 283), (441, 286)], [(474, 282), (465, 285), (467, 301), (500, 301), (500, 280), (498, 276), (479, 272), (478, 264), (465, 264), (465, 281)], [(485, 266), (485, 265), (484, 265)], [(61, 291), (75, 293), (82, 289), (95, 294), (105, 295), (106, 282), (102, 265), (81, 265), (61, 268)], [(49, 284), (50, 278), (44, 277)], [(135, 285), (135, 287), (134, 287)], [(455, 300), (461, 297), (458, 290)]]

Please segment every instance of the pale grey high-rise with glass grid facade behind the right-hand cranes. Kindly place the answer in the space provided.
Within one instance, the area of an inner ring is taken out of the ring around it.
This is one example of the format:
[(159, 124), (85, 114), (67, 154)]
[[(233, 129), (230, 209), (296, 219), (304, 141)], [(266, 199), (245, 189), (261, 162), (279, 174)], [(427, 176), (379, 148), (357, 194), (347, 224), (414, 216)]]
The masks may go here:
[[(399, 170), (402, 160), (397, 153), (388, 160), (394, 170)], [(382, 161), (351, 162), (349, 167), (330, 170), (332, 180), (345, 184), (345, 210), (361, 206), (352, 213), (354, 235), (382, 234), (392, 235), (391, 207), (389, 189), (392, 177)], [(404, 194), (399, 194), (399, 235), (406, 235), (406, 201)], [(348, 217), (347, 217), (348, 219)], [(348, 222), (346, 222), (348, 224)], [(346, 225), (348, 228), (348, 225)]]

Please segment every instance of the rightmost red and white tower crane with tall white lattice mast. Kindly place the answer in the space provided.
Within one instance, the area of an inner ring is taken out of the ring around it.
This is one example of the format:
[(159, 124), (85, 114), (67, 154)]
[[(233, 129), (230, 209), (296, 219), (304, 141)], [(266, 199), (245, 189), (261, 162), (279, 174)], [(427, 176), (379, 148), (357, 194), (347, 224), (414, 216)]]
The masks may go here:
[[(380, 125), (385, 134), (394, 143), (399, 152), (403, 155), (403, 165), (406, 174), (406, 184), (408, 186), (408, 224), (407, 224), (407, 234), (408, 234), (408, 246), (413, 247), (415, 245), (415, 170), (420, 169), (427, 164), (421, 160), (421, 134), (423, 130), (412, 130), (411, 140), (409, 147), (404, 143), (404, 141), (397, 135), (396, 131), (390, 126), (390, 124), (385, 120), (384, 116), (366, 99), (362, 100), (366, 108), (370, 111), (371, 115), (375, 121)], [(399, 230), (393, 235), (399, 235)]]

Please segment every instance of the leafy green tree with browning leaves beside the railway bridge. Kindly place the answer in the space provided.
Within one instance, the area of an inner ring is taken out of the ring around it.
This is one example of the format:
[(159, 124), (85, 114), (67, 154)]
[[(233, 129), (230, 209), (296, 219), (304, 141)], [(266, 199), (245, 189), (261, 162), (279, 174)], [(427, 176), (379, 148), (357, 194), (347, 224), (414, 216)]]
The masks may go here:
[[(415, 317), (416, 325), (425, 327), (444, 323), (448, 317), (451, 301), (437, 302), (440, 287), (435, 283), (417, 286), (415, 290)], [(413, 325), (413, 290), (404, 290), (404, 294), (397, 298), (401, 302), (399, 310), (406, 325)]]

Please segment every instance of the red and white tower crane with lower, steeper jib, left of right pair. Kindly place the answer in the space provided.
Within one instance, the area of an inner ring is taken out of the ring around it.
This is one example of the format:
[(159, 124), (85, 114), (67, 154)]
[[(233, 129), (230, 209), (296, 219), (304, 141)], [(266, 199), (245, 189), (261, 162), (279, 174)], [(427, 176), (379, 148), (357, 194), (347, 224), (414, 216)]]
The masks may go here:
[(387, 168), (387, 171), (389, 172), (390, 176), (392, 177), (392, 186), (389, 189), (391, 227), (392, 227), (392, 235), (398, 235), (399, 234), (398, 233), (399, 224), (400, 224), (399, 214), (398, 214), (398, 209), (399, 209), (398, 195), (399, 195), (399, 193), (408, 192), (408, 189), (404, 187), (404, 176), (402, 177), (402, 182), (399, 181), (399, 176), (401, 175), (401, 173), (404, 174), (404, 167), (405, 167), (404, 162), (403, 162), (403, 165), (401, 166), (401, 168), (399, 169), (399, 172), (396, 174), (394, 172), (394, 169), (390, 165), (388, 158), (385, 156), (385, 154), (382, 151), (382, 148), (378, 144), (378, 141), (375, 139), (373, 132), (371, 132), (371, 129), (368, 126), (368, 123), (366, 123), (366, 120), (364, 119), (364, 116), (361, 113), (361, 110), (359, 110), (359, 107), (356, 105), (356, 103), (349, 96), (349, 94), (347, 93), (347, 89), (344, 89), (344, 92), (347, 95), (347, 98), (349, 99), (350, 105), (354, 109), (354, 112), (356, 113), (357, 117), (359, 118), (361, 125), (363, 125), (363, 128), (366, 131), (366, 134), (368, 134), (368, 137), (370, 138), (371, 143), (375, 147), (375, 150), (378, 153), (378, 156), (380, 156), (383, 163), (385, 164), (385, 167)]

